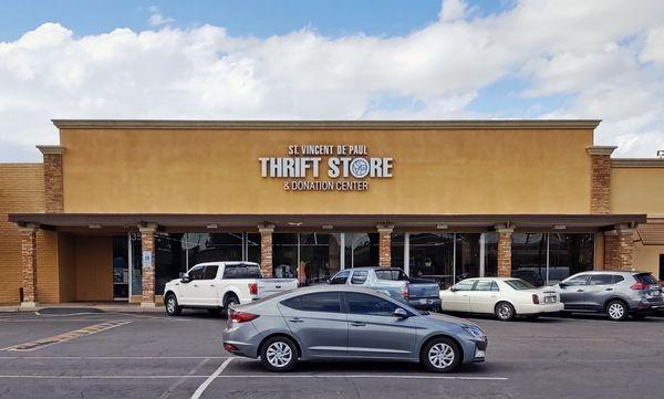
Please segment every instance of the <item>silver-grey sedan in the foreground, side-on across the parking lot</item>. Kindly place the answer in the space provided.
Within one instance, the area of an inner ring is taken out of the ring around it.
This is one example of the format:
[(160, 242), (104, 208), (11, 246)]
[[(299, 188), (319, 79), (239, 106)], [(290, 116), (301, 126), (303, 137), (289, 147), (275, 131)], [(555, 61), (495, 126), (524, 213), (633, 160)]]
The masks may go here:
[(299, 360), (403, 360), (447, 372), (484, 361), (487, 337), (477, 325), (416, 311), (352, 286), (312, 286), (231, 308), (224, 348), (260, 358), (271, 371)]

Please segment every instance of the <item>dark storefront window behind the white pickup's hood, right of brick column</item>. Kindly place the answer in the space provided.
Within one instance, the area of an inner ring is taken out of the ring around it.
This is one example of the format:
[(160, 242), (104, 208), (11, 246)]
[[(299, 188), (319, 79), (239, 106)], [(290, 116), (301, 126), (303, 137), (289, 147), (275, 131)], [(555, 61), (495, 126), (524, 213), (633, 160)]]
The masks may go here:
[(164, 294), (164, 285), (187, 272), (184, 233), (157, 233), (155, 237), (155, 294)]

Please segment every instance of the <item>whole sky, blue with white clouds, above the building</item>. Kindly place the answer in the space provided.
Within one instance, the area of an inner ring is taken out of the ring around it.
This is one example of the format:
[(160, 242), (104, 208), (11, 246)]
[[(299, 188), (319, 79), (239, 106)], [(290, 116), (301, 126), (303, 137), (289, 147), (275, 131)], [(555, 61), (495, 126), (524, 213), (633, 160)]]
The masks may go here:
[(602, 119), (664, 149), (661, 0), (4, 0), (0, 161), (52, 118)]

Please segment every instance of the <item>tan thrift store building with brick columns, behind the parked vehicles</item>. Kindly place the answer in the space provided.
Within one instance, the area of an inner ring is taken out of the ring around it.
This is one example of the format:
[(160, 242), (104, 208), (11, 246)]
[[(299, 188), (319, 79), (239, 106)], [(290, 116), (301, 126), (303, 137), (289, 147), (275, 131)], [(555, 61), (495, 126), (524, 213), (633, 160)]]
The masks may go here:
[(127, 301), (205, 261), (315, 283), (345, 267), (662, 279), (664, 159), (599, 120), (54, 120), (0, 164), (0, 303)]

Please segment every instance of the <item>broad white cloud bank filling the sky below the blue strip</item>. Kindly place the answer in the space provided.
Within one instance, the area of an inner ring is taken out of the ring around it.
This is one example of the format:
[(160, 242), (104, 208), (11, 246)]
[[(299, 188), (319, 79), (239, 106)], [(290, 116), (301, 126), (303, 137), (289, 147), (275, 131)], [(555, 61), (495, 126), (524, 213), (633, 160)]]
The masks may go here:
[(539, 0), (474, 17), (448, 0), (439, 20), (392, 38), (237, 38), (164, 23), (79, 38), (45, 23), (0, 43), (0, 159), (38, 160), (30, 148), (58, 140), (50, 118), (490, 118), (505, 104), (478, 114), (473, 101), (513, 77), (529, 109), (569, 96), (540, 117), (602, 118), (598, 143), (654, 156), (664, 149), (658, 6)]

